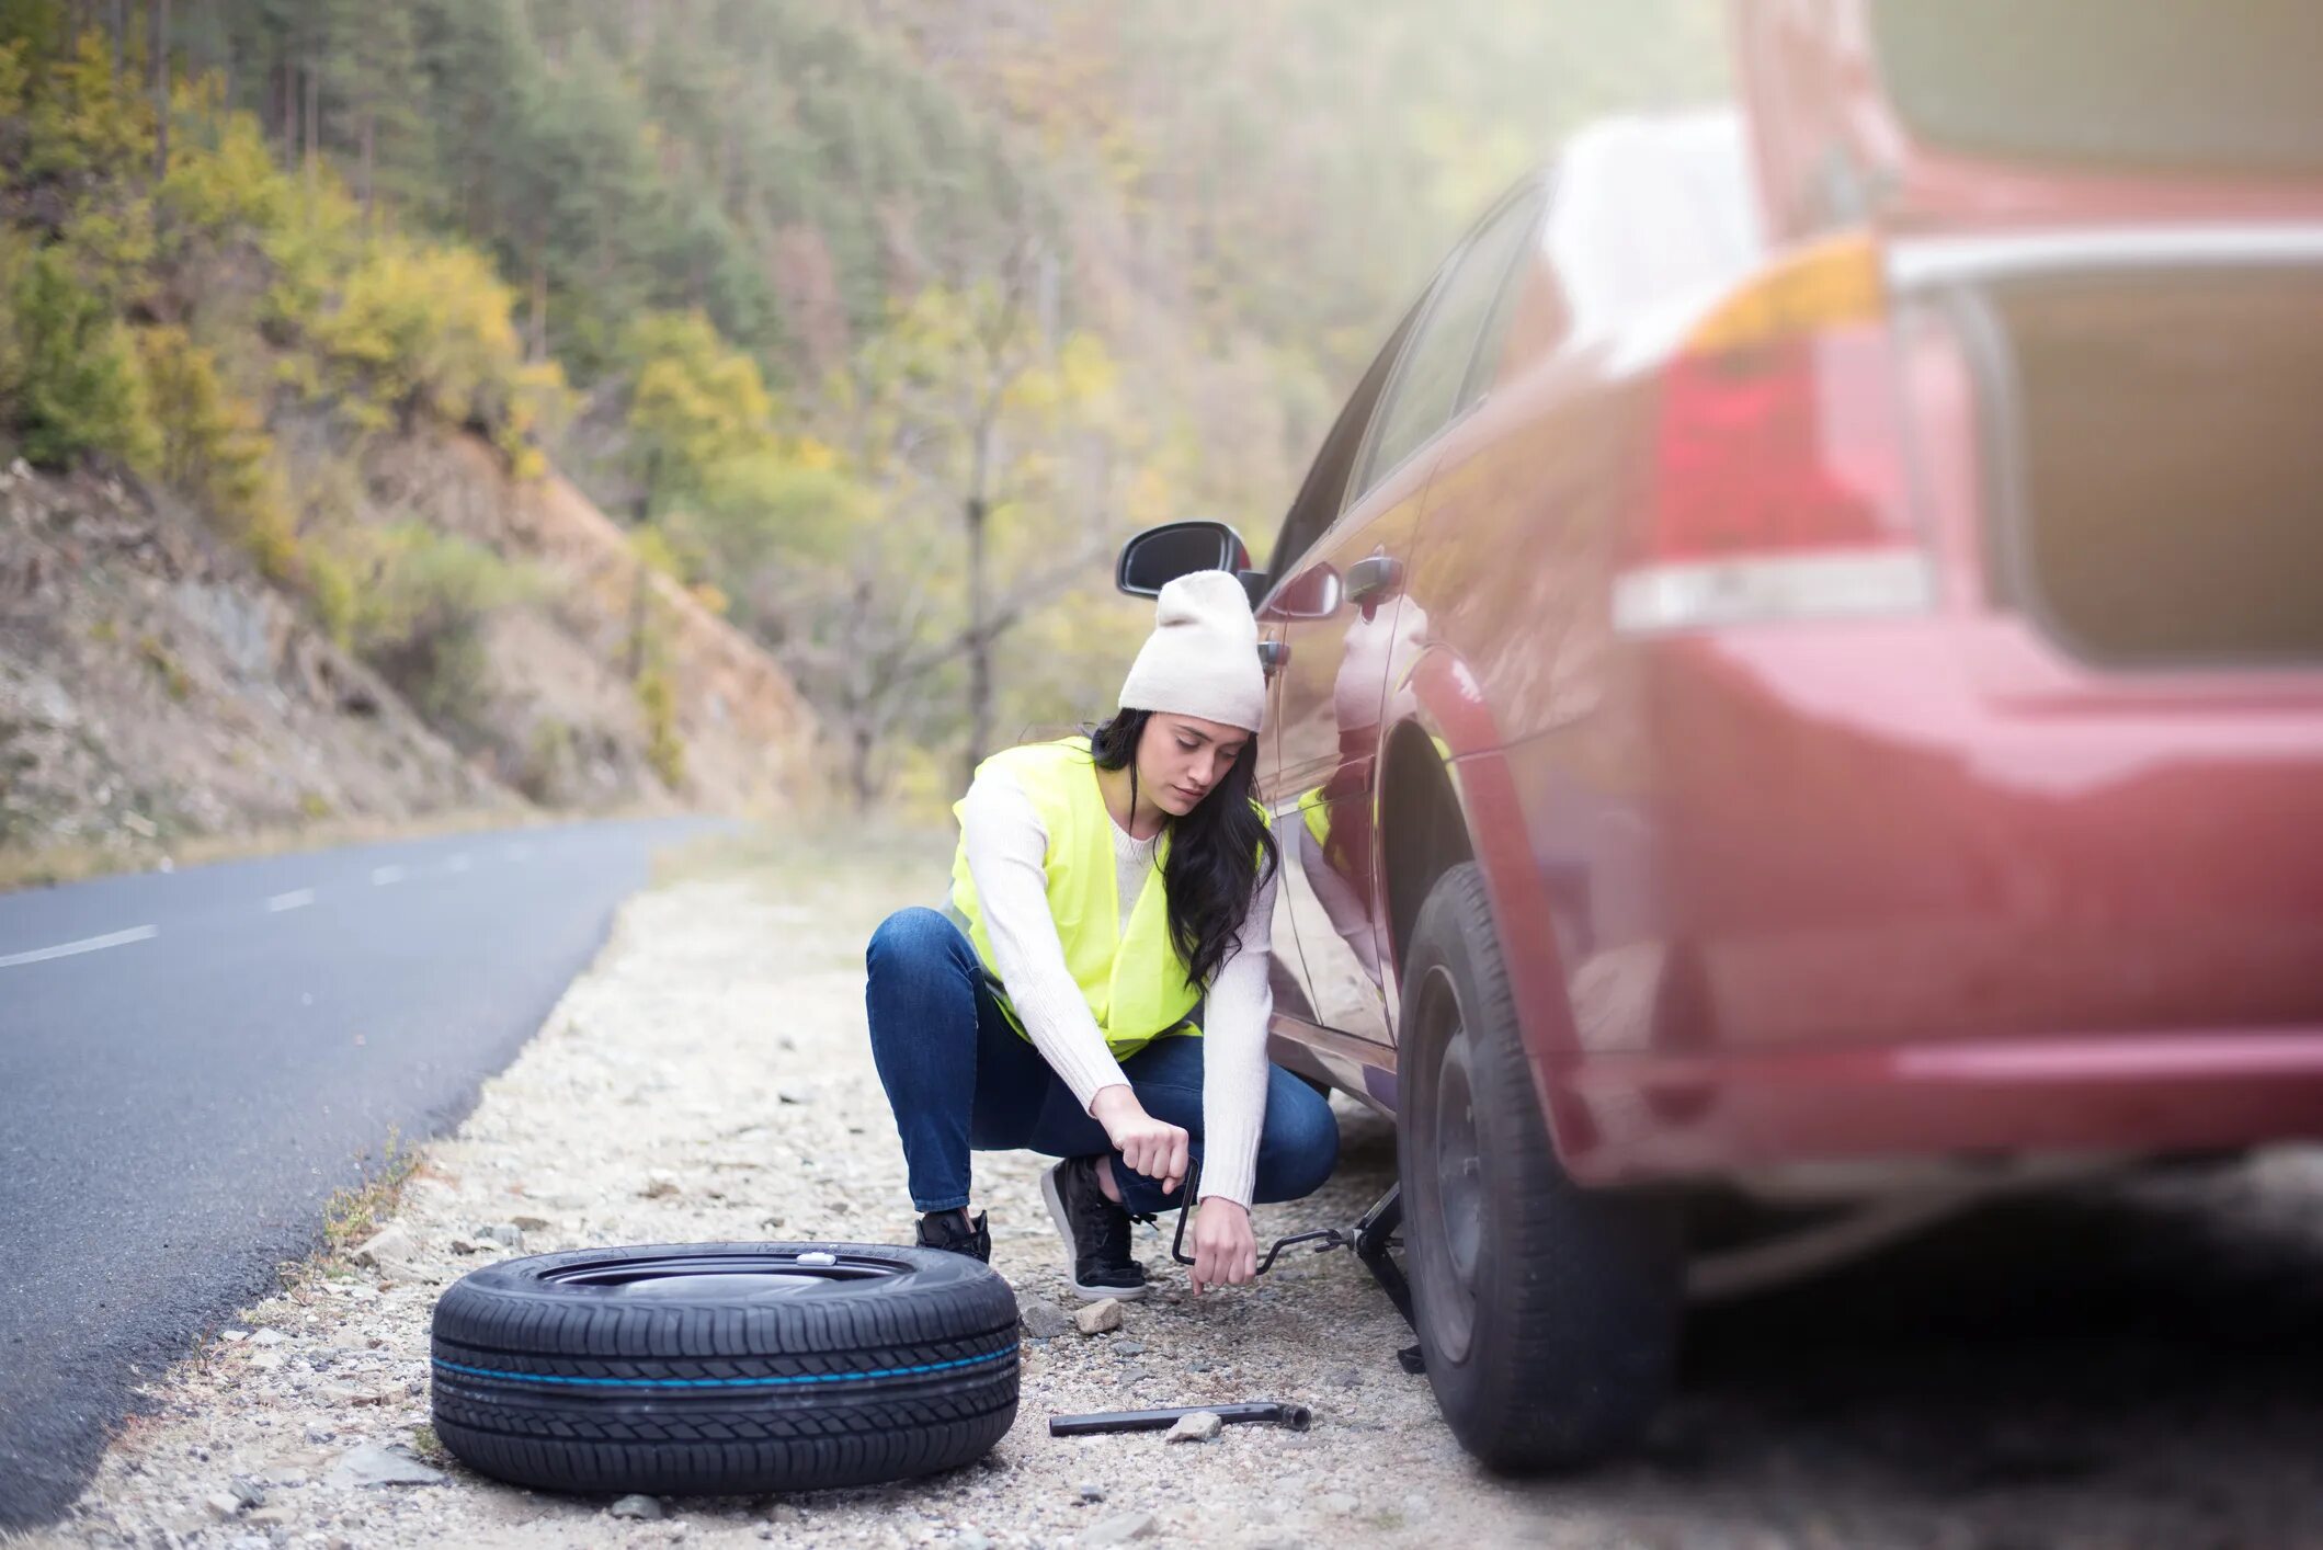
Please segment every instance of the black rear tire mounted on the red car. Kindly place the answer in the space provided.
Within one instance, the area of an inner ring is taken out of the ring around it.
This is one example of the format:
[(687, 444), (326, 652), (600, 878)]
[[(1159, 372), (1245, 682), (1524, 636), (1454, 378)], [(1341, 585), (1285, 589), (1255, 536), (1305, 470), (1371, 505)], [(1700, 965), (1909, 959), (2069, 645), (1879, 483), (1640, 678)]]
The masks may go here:
[(1445, 1420), (1510, 1473), (1619, 1452), (1670, 1387), (1677, 1218), (1559, 1167), (1475, 864), (1419, 909), (1401, 1043), (1412, 1318)]

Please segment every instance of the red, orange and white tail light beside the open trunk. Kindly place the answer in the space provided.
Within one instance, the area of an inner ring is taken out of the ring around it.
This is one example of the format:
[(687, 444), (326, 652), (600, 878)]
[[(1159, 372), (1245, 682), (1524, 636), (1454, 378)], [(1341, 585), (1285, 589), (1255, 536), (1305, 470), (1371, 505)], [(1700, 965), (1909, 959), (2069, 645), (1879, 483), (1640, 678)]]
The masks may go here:
[(1798, 253), (1728, 297), (1663, 369), (1624, 630), (1921, 611), (1879, 251)]

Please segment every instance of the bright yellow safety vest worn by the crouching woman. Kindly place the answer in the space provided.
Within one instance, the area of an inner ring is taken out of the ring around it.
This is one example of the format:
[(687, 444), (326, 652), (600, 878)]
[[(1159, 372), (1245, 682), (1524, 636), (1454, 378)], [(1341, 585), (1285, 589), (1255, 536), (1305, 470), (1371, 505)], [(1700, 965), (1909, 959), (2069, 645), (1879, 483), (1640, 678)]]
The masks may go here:
[[(1162, 1034), (1199, 1034), (1189, 1022), (1201, 1006), (1201, 985), (1187, 978), (1185, 957), (1168, 932), (1168, 892), (1162, 883), (1162, 867), (1168, 862), (1168, 834), (1155, 851), (1155, 869), (1145, 876), (1145, 888), (1129, 911), (1129, 930), (1122, 932), (1120, 883), (1113, 867), (1113, 818), (1106, 813), (1106, 795), (1096, 785), (1096, 760), (1089, 758), (1087, 737), (1069, 737), (1055, 744), (1024, 744), (994, 753), (976, 774), (1004, 769), (1041, 816), (1048, 830), (1048, 855), (1041, 867), (1048, 871), (1048, 913), (1057, 923), (1057, 941), (1064, 943), (1064, 967), (1080, 985), (1089, 1013), (1115, 1060), (1136, 1055)], [(964, 802), (952, 804), (959, 816)], [(1264, 809), (1252, 804), (1264, 820)], [(976, 957), (985, 964), (992, 995), (999, 999), (1008, 1022), (1024, 1032), (1008, 995), (999, 983), (999, 967), (992, 957), (992, 937), (985, 932), (983, 909), (976, 899), (976, 881), (969, 876), (969, 846), (962, 837), (952, 855), (952, 911), (966, 923)]]

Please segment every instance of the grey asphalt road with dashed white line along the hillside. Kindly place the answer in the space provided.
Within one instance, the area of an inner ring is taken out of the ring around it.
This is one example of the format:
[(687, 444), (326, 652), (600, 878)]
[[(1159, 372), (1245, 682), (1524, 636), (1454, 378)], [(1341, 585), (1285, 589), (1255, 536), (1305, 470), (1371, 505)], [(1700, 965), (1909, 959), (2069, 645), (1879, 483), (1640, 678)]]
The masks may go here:
[(355, 846), (0, 895), (0, 1527), (439, 1134), (702, 820)]

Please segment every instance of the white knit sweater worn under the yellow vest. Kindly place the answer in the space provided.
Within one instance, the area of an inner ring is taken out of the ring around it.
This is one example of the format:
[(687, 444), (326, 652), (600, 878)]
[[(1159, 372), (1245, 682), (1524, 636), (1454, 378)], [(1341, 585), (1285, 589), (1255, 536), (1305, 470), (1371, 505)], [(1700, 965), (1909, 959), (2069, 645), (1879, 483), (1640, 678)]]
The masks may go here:
[[(1110, 827), (1122, 930), (1127, 930), (1129, 911), (1136, 909), (1138, 890), (1155, 867), (1159, 839), (1141, 841), (1117, 823)], [(1008, 774), (987, 769), (969, 785), (959, 830), (1008, 1004), (1015, 1006), (1041, 1057), (1087, 1108), (1101, 1088), (1129, 1078), (1106, 1048), (1106, 1036), (1064, 964), (1057, 920), (1048, 913), (1048, 827), (1024, 788)], [(1266, 974), (1273, 920), (1275, 878), (1266, 876), (1250, 897), (1240, 948), (1217, 971), (1203, 1009), (1203, 1199), (1224, 1194), (1250, 1204), (1259, 1122), (1266, 1118), (1266, 1022), (1275, 1006)]]

